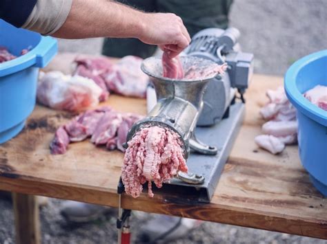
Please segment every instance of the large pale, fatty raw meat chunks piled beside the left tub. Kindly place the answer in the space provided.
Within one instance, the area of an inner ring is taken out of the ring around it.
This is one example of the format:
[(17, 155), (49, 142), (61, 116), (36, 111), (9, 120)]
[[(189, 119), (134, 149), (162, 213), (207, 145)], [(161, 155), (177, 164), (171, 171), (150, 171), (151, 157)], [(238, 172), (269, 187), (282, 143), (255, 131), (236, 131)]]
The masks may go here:
[(148, 76), (141, 71), (141, 62), (136, 56), (115, 64), (105, 57), (78, 57), (73, 76), (59, 71), (40, 76), (38, 101), (53, 109), (79, 111), (107, 100), (110, 92), (145, 98)]

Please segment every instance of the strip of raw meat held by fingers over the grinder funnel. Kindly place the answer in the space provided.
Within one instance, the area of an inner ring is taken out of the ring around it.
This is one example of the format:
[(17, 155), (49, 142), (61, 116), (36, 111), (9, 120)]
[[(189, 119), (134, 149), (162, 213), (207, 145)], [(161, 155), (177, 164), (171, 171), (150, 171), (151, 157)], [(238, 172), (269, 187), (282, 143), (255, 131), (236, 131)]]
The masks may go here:
[(170, 58), (168, 52), (162, 54), (162, 76), (171, 79), (184, 78), (184, 70), (179, 56)]

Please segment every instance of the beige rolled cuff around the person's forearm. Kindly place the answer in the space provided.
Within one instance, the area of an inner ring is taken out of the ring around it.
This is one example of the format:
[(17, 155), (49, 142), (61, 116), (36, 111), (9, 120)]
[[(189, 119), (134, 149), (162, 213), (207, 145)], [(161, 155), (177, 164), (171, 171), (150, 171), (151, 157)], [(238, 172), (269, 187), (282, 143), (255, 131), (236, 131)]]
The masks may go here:
[(22, 28), (51, 35), (65, 23), (72, 0), (37, 0)]

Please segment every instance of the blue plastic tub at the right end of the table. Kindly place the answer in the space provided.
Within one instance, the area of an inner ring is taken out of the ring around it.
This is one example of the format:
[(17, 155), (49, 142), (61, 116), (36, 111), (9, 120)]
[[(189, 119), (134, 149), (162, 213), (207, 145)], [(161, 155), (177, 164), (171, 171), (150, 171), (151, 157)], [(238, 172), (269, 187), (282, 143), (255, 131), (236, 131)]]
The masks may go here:
[(327, 196), (327, 111), (303, 96), (316, 85), (327, 85), (327, 49), (297, 60), (284, 82), (286, 95), (297, 109), (301, 162), (315, 187)]

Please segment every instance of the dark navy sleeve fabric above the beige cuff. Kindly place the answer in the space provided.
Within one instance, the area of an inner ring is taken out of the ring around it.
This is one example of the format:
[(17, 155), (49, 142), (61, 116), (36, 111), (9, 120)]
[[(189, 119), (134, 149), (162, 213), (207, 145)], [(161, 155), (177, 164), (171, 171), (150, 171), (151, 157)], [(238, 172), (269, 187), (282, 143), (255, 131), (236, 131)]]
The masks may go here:
[(21, 27), (32, 12), (37, 0), (0, 0), (0, 19)]

